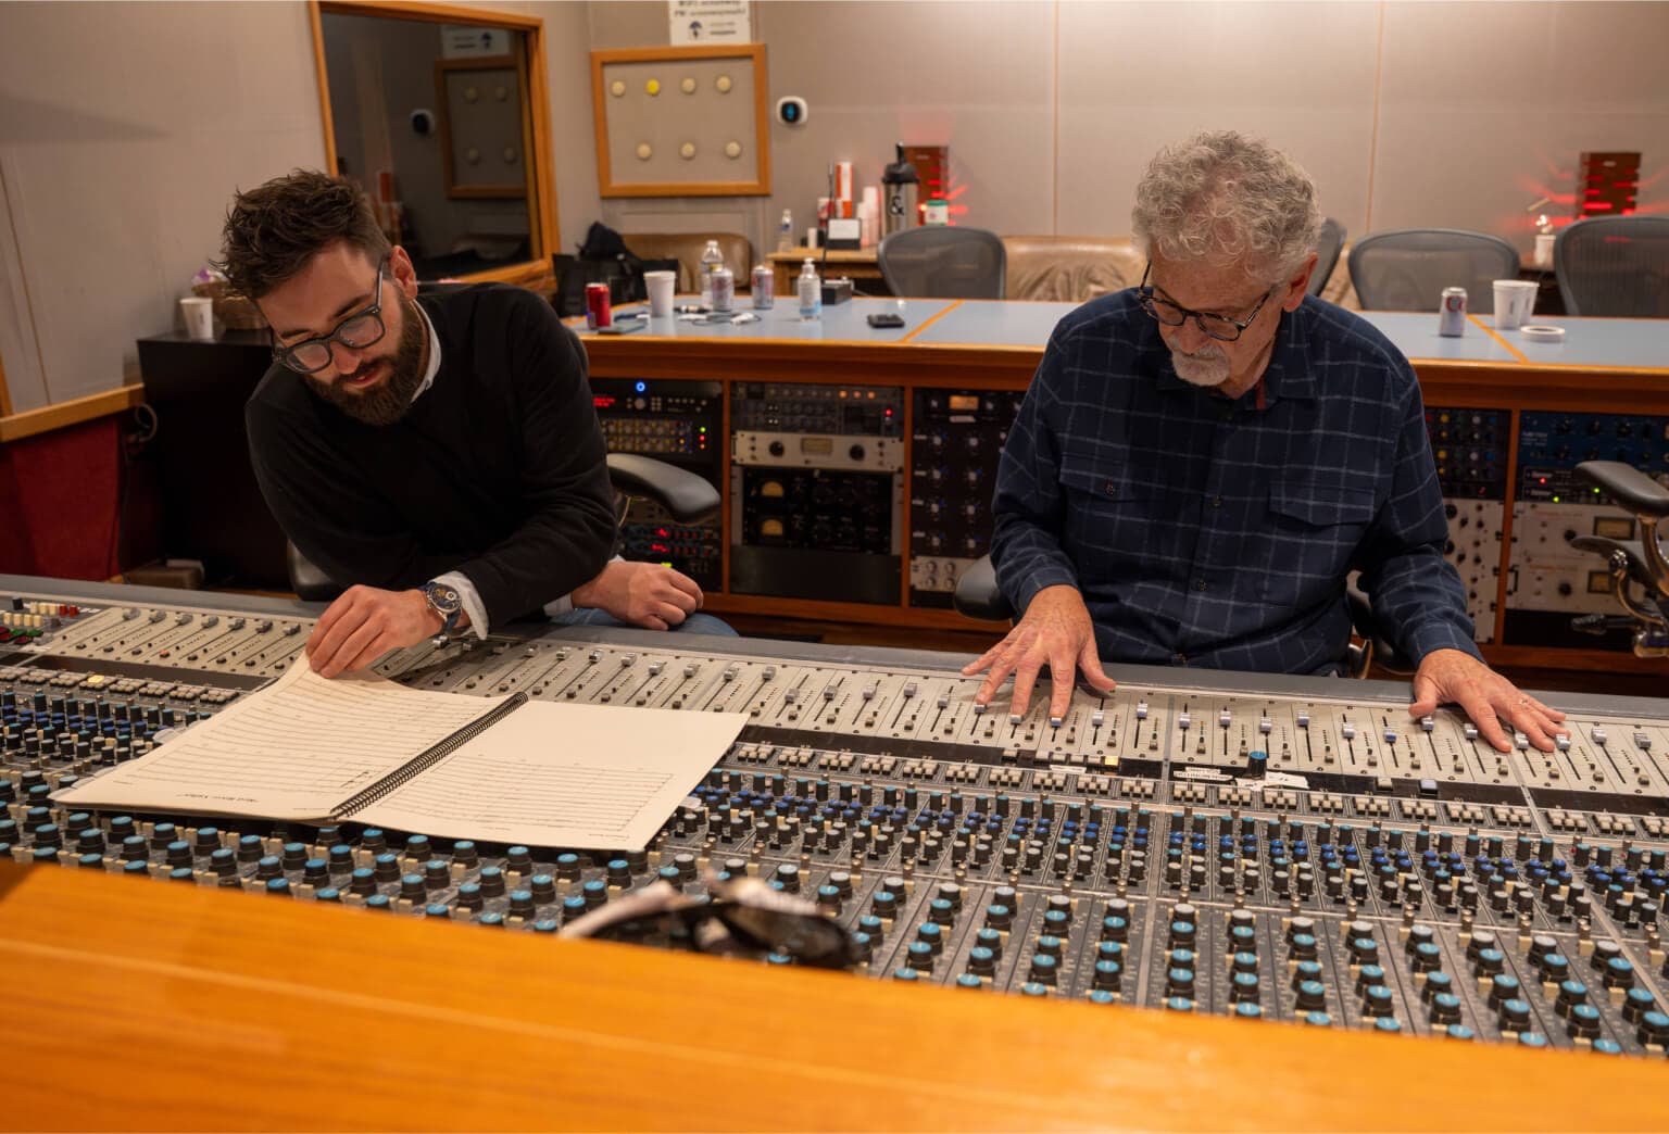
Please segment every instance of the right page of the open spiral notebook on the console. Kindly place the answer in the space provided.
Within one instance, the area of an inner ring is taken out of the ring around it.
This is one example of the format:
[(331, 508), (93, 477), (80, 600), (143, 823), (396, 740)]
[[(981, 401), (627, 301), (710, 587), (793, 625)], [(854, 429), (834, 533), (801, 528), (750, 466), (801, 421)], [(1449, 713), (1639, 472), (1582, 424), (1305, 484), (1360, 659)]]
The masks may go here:
[(529, 700), (354, 819), (444, 839), (636, 850), (746, 722)]

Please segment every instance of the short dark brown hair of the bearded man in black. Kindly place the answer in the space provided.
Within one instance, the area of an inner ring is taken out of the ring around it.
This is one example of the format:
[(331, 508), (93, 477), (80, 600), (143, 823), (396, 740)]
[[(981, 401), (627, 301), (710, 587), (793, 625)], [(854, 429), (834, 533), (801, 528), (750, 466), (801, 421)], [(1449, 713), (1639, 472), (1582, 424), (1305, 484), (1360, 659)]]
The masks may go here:
[(371, 200), (357, 185), (317, 170), (292, 170), (232, 198), (219, 267), (234, 292), (259, 300), (337, 240), (372, 262), (389, 250)]

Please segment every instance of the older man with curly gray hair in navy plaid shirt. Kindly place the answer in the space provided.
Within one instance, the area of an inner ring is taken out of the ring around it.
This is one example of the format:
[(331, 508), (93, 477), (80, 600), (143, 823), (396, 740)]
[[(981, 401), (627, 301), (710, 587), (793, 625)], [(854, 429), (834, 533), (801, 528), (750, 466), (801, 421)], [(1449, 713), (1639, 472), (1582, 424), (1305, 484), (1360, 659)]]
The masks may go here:
[(1551, 750), (1562, 714), (1472, 639), (1414, 370), (1369, 322), (1305, 297), (1322, 215), (1285, 153), (1233, 132), (1153, 158), (1132, 228), (1142, 285), (1060, 322), (1003, 450), (991, 560), (1023, 615), (965, 672), (1038, 670), (1061, 717), (1102, 659), (1339, 674), (1345, 577), (1419, 662), (1412, 715), (1459, 704)]

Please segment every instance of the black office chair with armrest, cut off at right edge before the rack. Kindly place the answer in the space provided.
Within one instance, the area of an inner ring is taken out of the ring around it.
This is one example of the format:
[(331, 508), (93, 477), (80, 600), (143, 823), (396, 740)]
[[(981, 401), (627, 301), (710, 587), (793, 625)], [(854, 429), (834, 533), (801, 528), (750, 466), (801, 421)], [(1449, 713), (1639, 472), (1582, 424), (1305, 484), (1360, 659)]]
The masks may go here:
[[(1576, 225), (1572, 225), (1574, 228)], [(1611, 595), (1627, 614), (1587, 614), (1571, 620), (1571, 629), (1604, 635), (1634, 630), (1637, 657), (1669, 657), (1669, 552), (1657, 535), (1657, 524), (1669, 517), (1669, 487), (1619, 460), (1584, 460), (1576, 475), (1599, 485), (1606, 495), (1634, 514), (1641, 537), (1616, 540), (1577, 535), (1571, 547), (1604, 555), (1611, 572)], [(1632, 587), (1639, 587), (1639, 595)]]

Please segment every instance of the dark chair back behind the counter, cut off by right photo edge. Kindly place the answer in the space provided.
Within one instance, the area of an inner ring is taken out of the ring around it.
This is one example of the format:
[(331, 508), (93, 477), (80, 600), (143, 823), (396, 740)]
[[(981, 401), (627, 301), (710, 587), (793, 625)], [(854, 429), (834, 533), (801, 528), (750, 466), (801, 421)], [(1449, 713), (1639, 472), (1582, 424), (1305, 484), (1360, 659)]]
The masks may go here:
[(1591, 217), (1554, 240), (1567, 315), (1669, 319), (1669, 217)]

